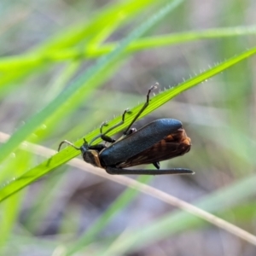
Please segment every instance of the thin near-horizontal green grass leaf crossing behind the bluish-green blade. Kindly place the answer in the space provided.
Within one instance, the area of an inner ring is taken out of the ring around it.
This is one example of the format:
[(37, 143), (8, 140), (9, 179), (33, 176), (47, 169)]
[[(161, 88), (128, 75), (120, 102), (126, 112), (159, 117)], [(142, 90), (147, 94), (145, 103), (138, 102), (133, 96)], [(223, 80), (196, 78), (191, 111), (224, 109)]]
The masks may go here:
[[(26, 57), (23, 55), (5, 57), (0, 59), (0, 70), (9, 71), (10, 68), (20, 67), (33, 67), (38, 61), (47, 59), (49, 62), (59, 62), (79, 59), (94, 59), (102, 55), (106, 55), (117, 47), (118, 43), (108, 43), (99, 46), (107, 34), (113, 32), (116, 26), (106, 26), (106, 31), (102, 32), (95, 39), (91, 40), (85, 49), (78, 49), (77, 47), (55, 49), (54, 51), (37, 53), (33, 56)], [(137, 41), (132, 42), (126, 49), (125, 53), (137, 52), (139, 50), (159, 48), (163, 46), (171, 46), (174, 44), (185, 44), (195, 40), (201, 39), (212, 39), (212, 38), (230, 38), (230, 37), (241, 37), (247, 35), (255, 35), (255, 26), (236, 26), (236, 27), (225, 27), (225, 28), (213, 28), (203, 31), (194, 32), (178, 32), (167, 34), (164, 36), (140, 38)]]

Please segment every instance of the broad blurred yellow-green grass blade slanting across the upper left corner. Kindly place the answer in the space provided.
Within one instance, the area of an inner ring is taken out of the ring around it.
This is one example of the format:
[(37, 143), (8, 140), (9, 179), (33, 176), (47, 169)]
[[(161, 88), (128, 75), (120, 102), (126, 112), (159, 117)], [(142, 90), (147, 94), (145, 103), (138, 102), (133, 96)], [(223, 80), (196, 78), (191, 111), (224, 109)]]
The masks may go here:
[[(56, 50), (73, 47), (74, 45), (81, 48), (80, 43), (83, 44), (84, 48), (85, 39), (88, 40), (87, 44), (90, 43), (90, 39), (92, 39), (94, 43), (99, 43), (99, 41), (104, 38), (104, 35), (102, 35), (101, 32), (97, 35), (97, 32), (104, 30), (105, 27), (108, 27), (109, 30), (109, 26), (113, 26), (113, 20), (116, 20), (118, 25), (122, 24), (122, 22), (131, 19), (133, 15), (141, 12), (151, 4), (155, 4), (155, 2), (153, 0), (142, 0), (139, 2), (130, 0), (125, 3), (114, 3), (108, 8), (102, 9), (99, 15), (91, 17), (88, 22), (82, 24), (79, 22), (78, 25), (73, 25), (69, 29), (65, 29), (64, 32), (60, 32), (55, 37), (49, 38), (44, 44), (27, 52), (23, 55), (22, 59), (26, 64), (29, 63), (29, 65), (22, 65), (19, 60), (20, 56), (3, 58), (2, 61), (6, 73), (0, 74), (0, 88), (2, 89), (14, 81), (23, 79), (31, 73), (44, 70), (46, 66), (49, 67), (49, 56)], [(106, 20), (111, 20), (111, 24), (108, 24)], [(97, 39), (94, 38), (95, 36)], [(105, 36), (107, 36), (106, 31)], [(76, 58), (77, 57), (79, 56), (76, 56)], [(23, 64), (25, 64), (24, 62)], [(20, 63), (21, 66), (18, 63)]]

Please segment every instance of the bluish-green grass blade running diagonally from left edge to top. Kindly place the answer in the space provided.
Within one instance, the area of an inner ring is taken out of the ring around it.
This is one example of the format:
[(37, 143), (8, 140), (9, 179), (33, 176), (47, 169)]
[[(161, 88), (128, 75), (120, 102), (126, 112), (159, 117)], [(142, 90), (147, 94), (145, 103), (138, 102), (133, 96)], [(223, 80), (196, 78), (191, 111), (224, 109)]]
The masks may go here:
[(125, 50), (125, 47), (131, 44), (132, 41), (139, 38), (146, 32), (151, 26), (154, 26), (156, 22), (163, 19), (172, 9), (177, 7), (181, 3), (180, 0), (173, 1), (172, 3), (167, 4), (163, 9), (160, 9), (155, 15), (135, 29), (131, 34), (119, 44), (119, 47), (113, 50), (109, 55), (103, 56), (96, 65), (90, 67), (86, 73), (82, 74), (78, 79), (76, 79), (73, 84), (71, 84), (67, 90), (64, 90), (59, 96), (55, 98), (54, 101), (50, 102), (47, 107), (45, 107), (41, 112), (34, 115), (31, 119), (26, 121), (26, 124), (21, 126), (15, 134), (10, 137), (9, 141), (1, 147), (0, 151), (0, 162), (4, 160), (18, 145), (26, 139), (33, 131), (41, 125), (45, 119), (49, 118), (49, 115), (54, 113), (58, 108), (61, 108), (62, 105), (68, 104), (69, 98), (78, 96), (81, 94), (81, 91), (84, 87), (90, 84), (86, 84), (102, 71), (105, 67), (108, 67), (108, 64), (115, 60), (120, 54)]

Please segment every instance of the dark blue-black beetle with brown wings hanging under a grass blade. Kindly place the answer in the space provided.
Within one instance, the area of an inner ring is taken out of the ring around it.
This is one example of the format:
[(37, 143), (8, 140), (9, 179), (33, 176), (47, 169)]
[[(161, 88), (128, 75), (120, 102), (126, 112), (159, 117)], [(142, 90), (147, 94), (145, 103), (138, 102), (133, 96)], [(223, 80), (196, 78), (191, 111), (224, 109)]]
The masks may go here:
[[(85, 162), (92, 166), (105, 169), (109, 174), (144, 174), (144, 175), (160, 175), (160, 174), (193, 174), (194, 172), (185, 168), (171, 168), (168, 170), (160, 169), (160, 161), (172, 159), (179, 155), (189, 152), (191, 143), (183, 129), (182, 123), (177, 119), (156, 119), (141, 129), (131, 128), (131, 125), (143, 113), (149, 104), (149, 95), (156, 86), (151, 86), (148, 90), (147, 100), (143, 108), (137, 113), (131, 124), (123, 132), (123, 136), (118, 140), (108, 137), (108, 132), (122, 125), (125, 122), (125, 115), (130, 113), (128, 109), (122, 115), (122, 120), (113, 125), (108, 131), (103, 132), (103, 127), (108, 126), (102, 123), (100, 127), (100, 135), (94, 137), (90, 143), (84, 139), (81, 147), (76, 147), (67, 140), (62, 141), (58, 151), (63, 143), (81, 151)], [(91, 145), (97, 138), (101, 137), (105, 144)], [(143, 164), (153, 164), (157, 170), (143, 169), (125, 169), (131, 166)]]

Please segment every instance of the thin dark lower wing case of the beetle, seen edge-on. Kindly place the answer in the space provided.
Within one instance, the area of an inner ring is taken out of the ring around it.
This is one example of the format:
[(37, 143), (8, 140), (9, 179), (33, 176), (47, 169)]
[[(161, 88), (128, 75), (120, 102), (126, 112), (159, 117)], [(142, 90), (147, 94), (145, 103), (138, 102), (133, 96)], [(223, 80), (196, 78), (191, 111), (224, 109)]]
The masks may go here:
[(172, 168), (169, 170), (130, 170), (111, 166), (105, 167), (106, 172), (112, 175), (160, 175), (160, 174), (194, 174), (195, 172), (184, 168)]

